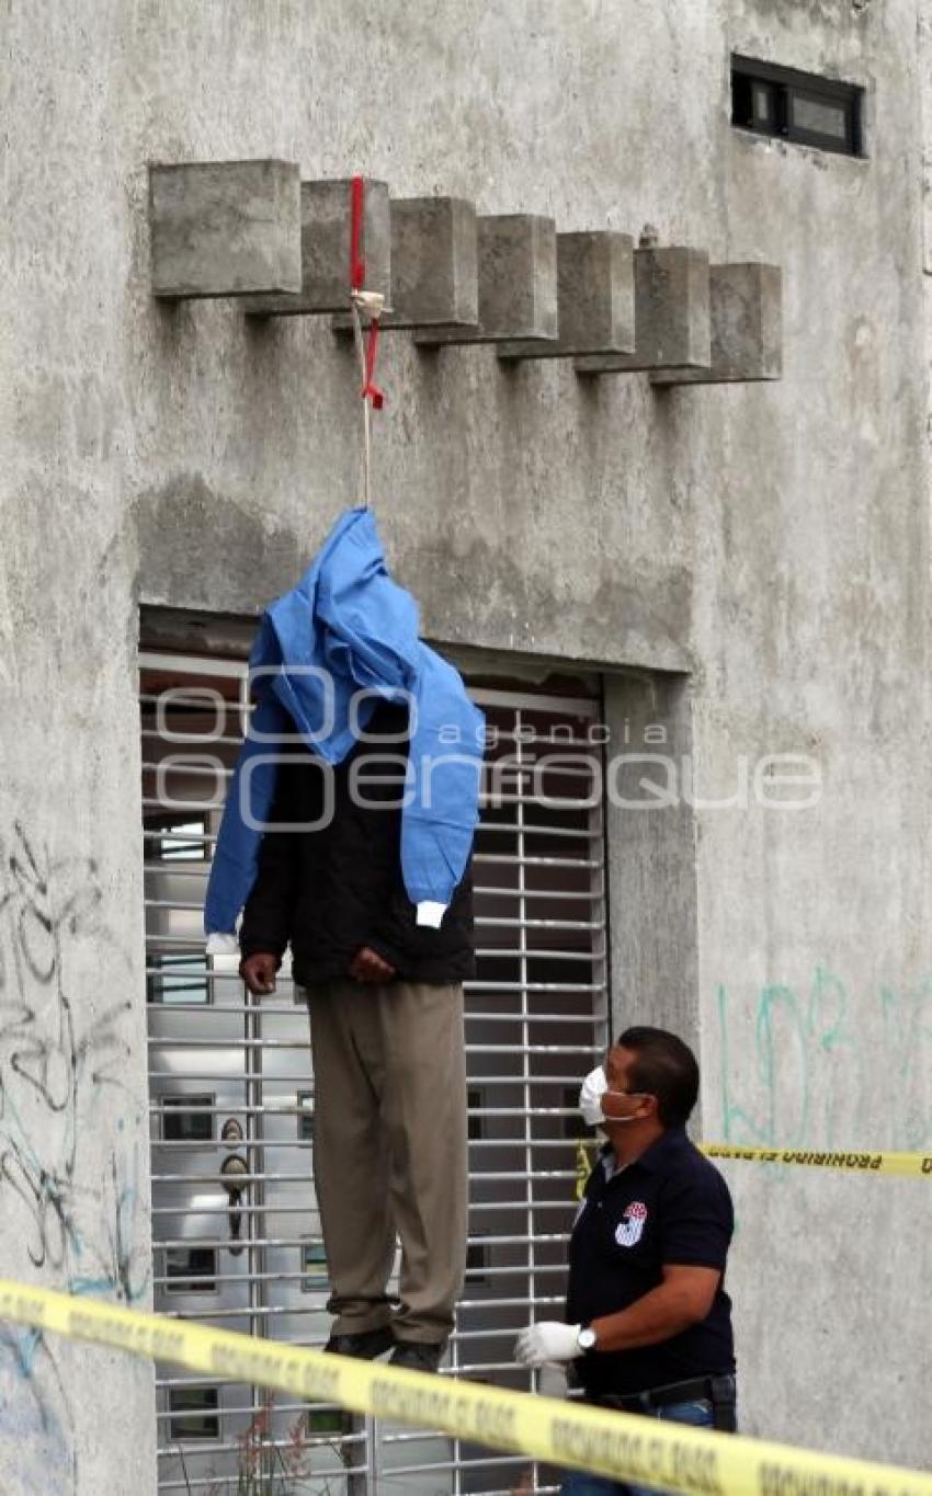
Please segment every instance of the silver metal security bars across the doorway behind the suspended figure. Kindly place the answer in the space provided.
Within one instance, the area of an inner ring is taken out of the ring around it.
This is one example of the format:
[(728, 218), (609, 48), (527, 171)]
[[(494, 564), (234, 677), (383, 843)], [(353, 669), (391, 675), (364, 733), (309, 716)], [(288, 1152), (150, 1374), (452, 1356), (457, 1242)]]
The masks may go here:
[[(579, 1077), (607, 1020), (598, 703), (471, 687), (488, 721), (467, 987), (470, 1249), (444, 1375), (527, 1388), (518, 1330), (558, 1315)], [(156, 1308), (299, 1345), (328, 1336), (307, 1010), (206, 957), (202, 902), (247, 721), (241, 660), (141, 657)], [(365, 1167), (365, 1161), (347, 1161)], [(432, 1430), (157, 1369), (159, 1490), (552, 1492), (555, 1472)]]

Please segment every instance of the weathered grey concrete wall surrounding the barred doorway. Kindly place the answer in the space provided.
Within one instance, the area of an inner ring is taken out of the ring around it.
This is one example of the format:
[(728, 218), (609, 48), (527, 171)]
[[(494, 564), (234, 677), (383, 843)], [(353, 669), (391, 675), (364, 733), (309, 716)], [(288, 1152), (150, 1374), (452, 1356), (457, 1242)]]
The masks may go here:
[[(706, 1135), (932, 1146), (916, 33), (916, 0), (7, 0), (4, 1273), (148, 1294), (138, 604), (248, 613), (358, 495), (326, 323), (150, 298), (148, 160), (365, 169), (782, 263), (779, 386), (655, 393), (386, 338), (377, 513), (435, 637), (690, 670), (661, 700), (681, 742), (691, 703), (702, 793), (741, 755), (818, 760), (814, 811), (697, 811), (697, 904), (688, 868), (661, 875), (691, 817), (631, 827), (658, 877), (630, 901), (616, 826), (618, 1017), (699, 1026)], [(869, 159), (733, 132), (730, 49), (868, 84)], [(664, 980), (697, 984), (661, 1001), (643, 950), (672, 905)], [(922, 1185), (729, 1177), (748, 1432), (928, 1460)], [(18, 1333), (0, 1354), (4, 1489), (151, 1489), (145, 1367)]]

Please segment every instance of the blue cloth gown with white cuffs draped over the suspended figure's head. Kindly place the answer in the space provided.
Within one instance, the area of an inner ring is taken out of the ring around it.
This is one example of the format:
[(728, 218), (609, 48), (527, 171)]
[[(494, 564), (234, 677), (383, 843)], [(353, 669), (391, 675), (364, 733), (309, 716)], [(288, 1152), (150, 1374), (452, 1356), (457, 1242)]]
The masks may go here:
[(298, 586), (266, 609), (250, 655), (254, 711), (208, 881), (208, 938), (233, 935), (256, 881), (283, 747), (296, 730), (311, 752), (341, 763), (380, 699), (410, 706), (401, 872), (419, 920), (438, 923), (473, 847), (485, 717), (417, 625), (368, 509), (341, 515)]

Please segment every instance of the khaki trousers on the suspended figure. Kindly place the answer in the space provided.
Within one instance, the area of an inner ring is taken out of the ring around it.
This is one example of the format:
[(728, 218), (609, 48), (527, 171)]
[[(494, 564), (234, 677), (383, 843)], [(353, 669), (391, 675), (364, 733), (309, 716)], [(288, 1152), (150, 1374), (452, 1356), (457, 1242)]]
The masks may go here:
[(334, 1333), (390, 1322), (399, 1340), (446, 1340), (467, 1251), (462, 987), (340, 980), (308, 987), (307, 998)]

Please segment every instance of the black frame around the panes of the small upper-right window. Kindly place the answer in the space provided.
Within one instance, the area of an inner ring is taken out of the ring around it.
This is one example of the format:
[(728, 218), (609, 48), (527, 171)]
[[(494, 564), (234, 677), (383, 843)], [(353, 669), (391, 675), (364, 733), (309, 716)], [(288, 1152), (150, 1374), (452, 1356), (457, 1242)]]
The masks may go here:
[[(770, 100), (770, 118), (757, 117), (752, 102), (754, 85), (766, 91)], [(796, 99), (815, 103), (830, 103), (844, 115), (844, 139), (820, 130), (808, 130), (793, 123)], [(779, 67), (776, 63), (761, 63), (754, 57), (732, 54), (732, 124), (749, 135), (764, 139), (788, 141), (791, 145), (809, 145), (835, 156), (866, 157), (865, 150), (865, 88), (860, 84), (823, 78), (820, 73), (803, 73), (796, 67)]]

